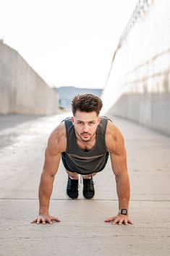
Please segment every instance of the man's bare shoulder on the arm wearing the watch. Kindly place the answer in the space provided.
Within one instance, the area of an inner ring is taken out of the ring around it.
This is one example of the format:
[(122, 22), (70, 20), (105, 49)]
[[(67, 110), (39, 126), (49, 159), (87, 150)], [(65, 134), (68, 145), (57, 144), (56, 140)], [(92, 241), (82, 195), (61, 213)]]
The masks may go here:
[(106, 147), (109, 152), (119, 152), (124, 147), (124, 136), (114, 123), (108, 120), (106, 128)]

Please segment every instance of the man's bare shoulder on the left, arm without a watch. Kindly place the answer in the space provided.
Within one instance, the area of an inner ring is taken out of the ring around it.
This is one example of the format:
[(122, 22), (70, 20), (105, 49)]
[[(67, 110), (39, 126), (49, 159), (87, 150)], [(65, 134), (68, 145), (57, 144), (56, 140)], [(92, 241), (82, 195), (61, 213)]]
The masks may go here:
[(66, 150), (67, 138), (64, 122), (58, 125), (48, 138), (48, 152), (50, 154), (59, 154)]

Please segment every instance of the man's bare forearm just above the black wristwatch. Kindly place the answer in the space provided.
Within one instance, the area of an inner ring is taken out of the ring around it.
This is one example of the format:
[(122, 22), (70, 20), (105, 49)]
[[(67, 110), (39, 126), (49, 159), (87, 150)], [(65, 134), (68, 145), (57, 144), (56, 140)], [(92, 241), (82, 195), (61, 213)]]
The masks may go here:
[(116, 176), (116, 190), (119, 199), (119, 209), (128, 209), (130, 197), (128, 173)]

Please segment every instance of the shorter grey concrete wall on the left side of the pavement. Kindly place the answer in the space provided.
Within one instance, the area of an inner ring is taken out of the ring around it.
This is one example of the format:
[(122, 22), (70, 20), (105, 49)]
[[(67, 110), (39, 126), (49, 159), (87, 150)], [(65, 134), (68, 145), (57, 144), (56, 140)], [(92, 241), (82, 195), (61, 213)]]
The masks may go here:
[(56, 91), (0, 40), (0, 113), (48, 115), (57, 111)]

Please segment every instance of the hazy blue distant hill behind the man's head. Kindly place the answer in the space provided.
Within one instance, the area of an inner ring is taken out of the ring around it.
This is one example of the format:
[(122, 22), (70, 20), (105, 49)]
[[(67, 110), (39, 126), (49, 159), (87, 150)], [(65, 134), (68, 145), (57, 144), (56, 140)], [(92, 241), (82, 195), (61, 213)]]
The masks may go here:
[(54, 88), (59, 94), (59, 106), (71, 109), (72, 98), (77, 94), (95, 94), (96, 96), (101, 96), (102, 89), (90, 89), (90, 88), (77, 88), (74, 86), (65, 86)]

